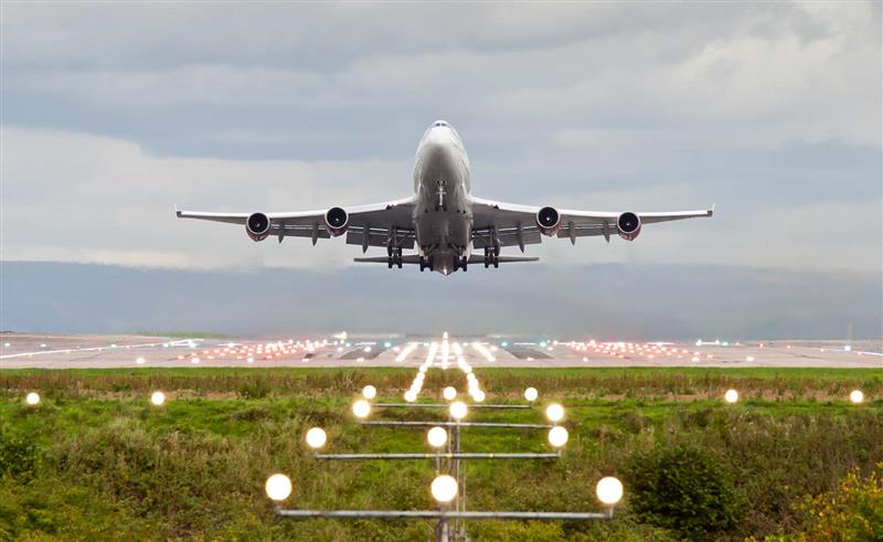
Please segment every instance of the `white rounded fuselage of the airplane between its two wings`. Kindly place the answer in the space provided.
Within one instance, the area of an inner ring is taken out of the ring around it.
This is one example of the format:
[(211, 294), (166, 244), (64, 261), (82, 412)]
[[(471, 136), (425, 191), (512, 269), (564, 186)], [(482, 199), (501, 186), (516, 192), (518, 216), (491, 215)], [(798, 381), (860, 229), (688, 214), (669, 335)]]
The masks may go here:
[(444, 120), (433, 123), (417, 147), (414, 191), (419, 254), (434, 270), (448, 275), (458, 258), (469, 258), (472, 209), (469, 158), (457, 131)]

